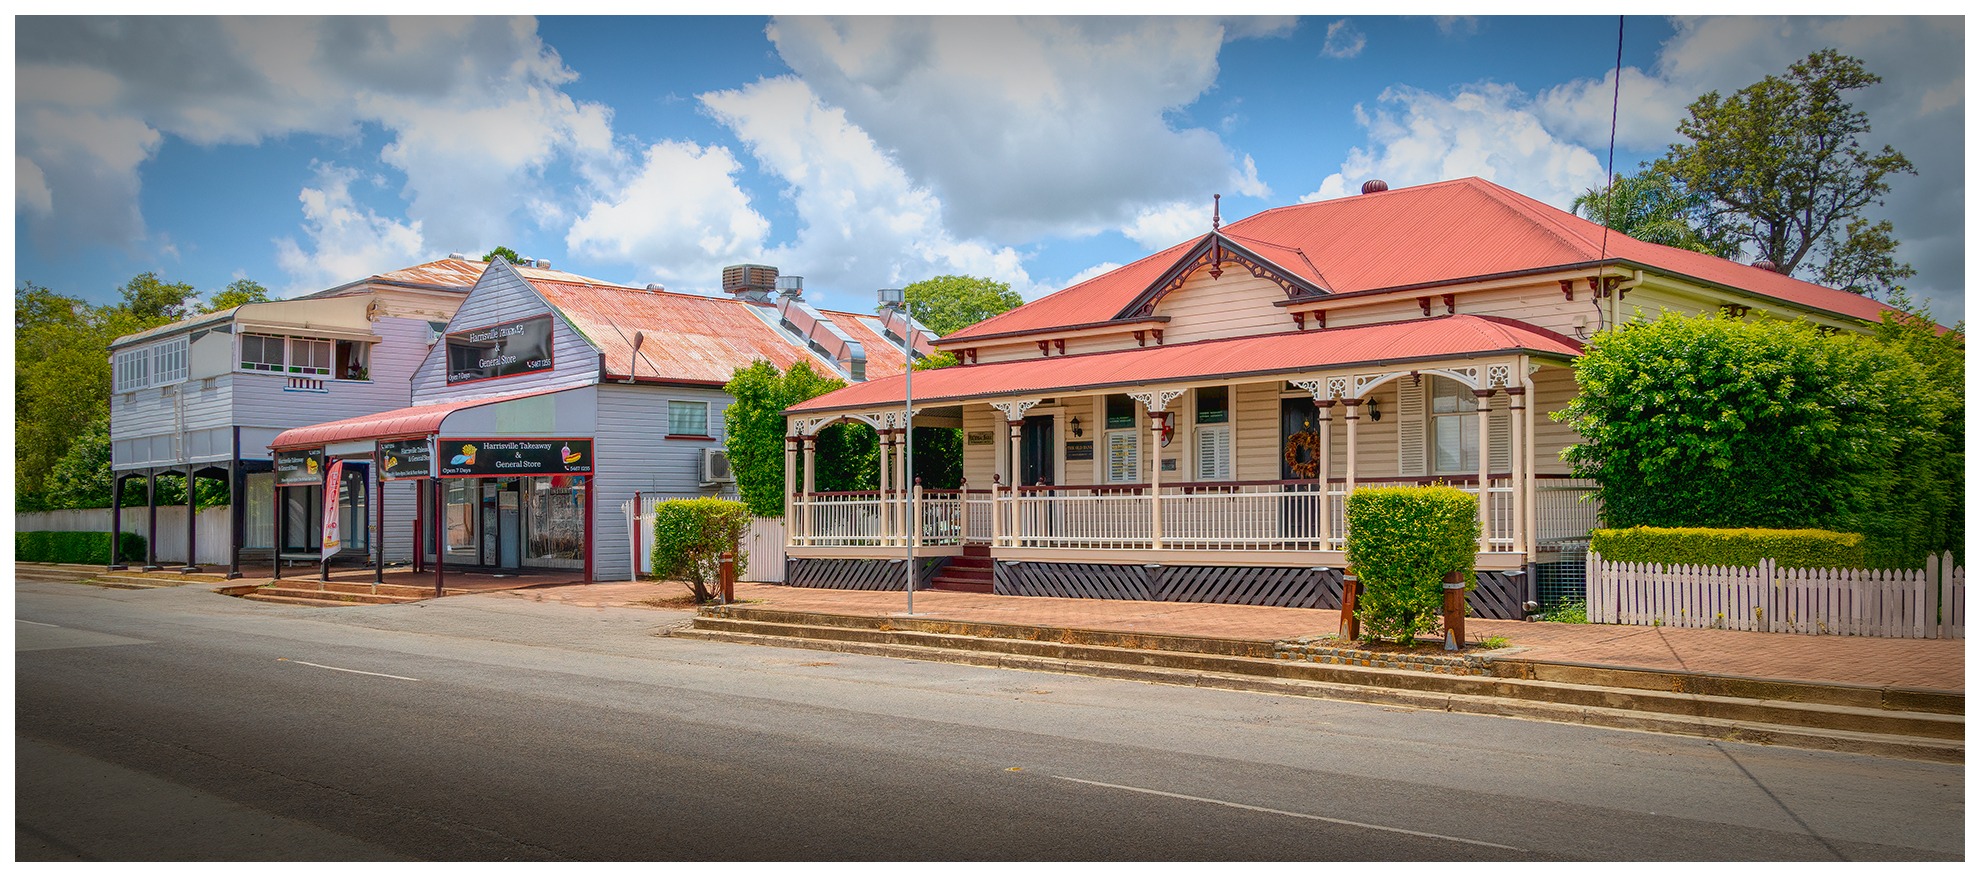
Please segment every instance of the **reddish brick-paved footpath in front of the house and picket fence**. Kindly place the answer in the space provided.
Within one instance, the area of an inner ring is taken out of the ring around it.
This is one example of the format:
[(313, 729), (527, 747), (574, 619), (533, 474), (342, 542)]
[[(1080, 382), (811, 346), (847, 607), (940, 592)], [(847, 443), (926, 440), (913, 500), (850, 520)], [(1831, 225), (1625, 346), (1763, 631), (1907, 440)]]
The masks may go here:
[[(519, 600), (574, 606), (642, 606), (679, 598), (669, 582), (566, 584), (505, 592)], [(903, 592), (784, 588), (739, 584), (737, 600), (790, 612), (893, 616), (907, 608)], [(1293, 639), (1333, 633), (1335, 610), (1273, 606), (1170, 604), (1138, 600), (1014, 598), (994, 594), (915, 592), (915, 614), (954, 622), (1002, 622), (1041, 628), (1176, 633), (1226, 639)], [(1550, 624), (1467, 620), (1477, 639), (1503, 635), (1521, 659), (1643, 667), (1816, 683), (1893, 685), (1966, 691), (1964, 639), (1883, 639), (1736, 630), (1635, 628), (1612, 624)]]

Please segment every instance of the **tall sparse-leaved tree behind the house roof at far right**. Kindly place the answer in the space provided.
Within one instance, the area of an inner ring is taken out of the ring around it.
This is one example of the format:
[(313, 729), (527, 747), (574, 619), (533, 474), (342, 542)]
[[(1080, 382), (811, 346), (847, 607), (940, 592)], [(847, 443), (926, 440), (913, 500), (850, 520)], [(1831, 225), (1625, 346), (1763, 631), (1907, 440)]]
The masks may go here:
[(1653, 170), (1707, 200), (1707, 228), (1752, 245), (1786, 275), (1871, 295), (1895, 291), (1911, 265), (1893, 253), (1889, 222), (1869, 222), (1887, 176), (1915, 174), (1903, 152), (1869, 150), (1869, 117), (1845, 93), (1883, 81), (1863, 61), (1820, 49), (1732, 97), (1699, 97), (1679, 143)]

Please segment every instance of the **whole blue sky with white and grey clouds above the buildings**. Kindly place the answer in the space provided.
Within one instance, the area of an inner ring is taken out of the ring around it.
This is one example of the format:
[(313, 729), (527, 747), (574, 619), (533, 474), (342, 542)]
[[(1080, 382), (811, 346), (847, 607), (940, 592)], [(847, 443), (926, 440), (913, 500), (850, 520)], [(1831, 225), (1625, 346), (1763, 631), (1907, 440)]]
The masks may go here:
[[(1643, 18), (1616, 168), (1683, 107), (1833, 46), (1919, 166), (1877, 216), (1964, 319), (1960, 20)], [(505, 244), (830, 307), (937, 273), (1026, 297), (1224, 218), (1485, 176), (1600, 184), (1616, 18), (18, 18), (16, 283), (299, 295)]]

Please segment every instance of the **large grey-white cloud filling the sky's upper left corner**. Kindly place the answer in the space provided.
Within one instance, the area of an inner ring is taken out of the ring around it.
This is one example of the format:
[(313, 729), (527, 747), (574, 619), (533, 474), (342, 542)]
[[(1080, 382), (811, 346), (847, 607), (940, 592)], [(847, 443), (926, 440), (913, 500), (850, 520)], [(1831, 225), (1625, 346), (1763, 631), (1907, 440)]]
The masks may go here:
[(527, 18), (24, 18), (18, 36), (18, 152), (46, 176), (50, 212), (30, 214), (44, 245), (145, 242), (139, 166), (164, 137), (376, 125), (408, 218), (457, 244), (503, 238), (546, 164), (608, 160), (608, 113), (560, 91), (574, 73)]

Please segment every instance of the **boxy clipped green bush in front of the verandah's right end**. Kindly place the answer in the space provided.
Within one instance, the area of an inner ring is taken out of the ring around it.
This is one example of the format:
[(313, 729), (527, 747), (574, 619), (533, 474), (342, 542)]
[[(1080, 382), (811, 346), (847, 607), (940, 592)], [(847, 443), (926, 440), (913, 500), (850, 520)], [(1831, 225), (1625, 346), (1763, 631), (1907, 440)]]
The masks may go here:
[(1443, 574), (1473, 582), (1479, 507), (1455, 487), (1364, 487), (1348, 493), (1348, 568), (1360, 576), (1354, 616), (1368, 639), (1404, 645), (1436, 632)]

